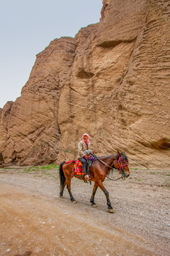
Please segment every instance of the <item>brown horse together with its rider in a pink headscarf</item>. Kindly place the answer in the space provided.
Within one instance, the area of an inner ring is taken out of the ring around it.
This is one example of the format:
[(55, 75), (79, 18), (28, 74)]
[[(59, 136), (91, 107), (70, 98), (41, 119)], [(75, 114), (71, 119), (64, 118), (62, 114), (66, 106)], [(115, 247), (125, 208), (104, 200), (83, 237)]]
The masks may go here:
[[(96, 203), (94, 202), (94, 196), (96, 194), (97, 188), (101, 188), (101, 190), (104, 192), (107, 200), (108, 205), (108, 211), (110, 213), (113, 213), (113, 207), (111, 206), (111, 201), (109, 198), (108, 191), (103, 186), (103, 181), (105, 180), (107, 174), (111, 169), (117, 169), (120, 174), (122, 174), (122, 178), (128, 178), (130, 175), (130, 170), (128, 168), (128, 157), (125, 155), (125, 152), (119, 152), (117, 154), (111, 154), (109, 156), (100, 156), (100, 157), (94, 157), (96, 161), (93, 161), (90, 165), (90, 168), (88, 166), (88, 162), (91, 157), (91, 144), (89, 142), (89, 134), (84, 134), (82, 137), (81, 142), (78, 144), (78, 158), (83, 164), (83, 169), (86, 174), (86, 178), (77, 177), (80, 179), (90, 179), (90, 181), (94, 182), (94, 189), (91, 195), (91, 206), (96, 207)], [(93, 152), (92, 152), (93, 153)], [(69, 191), (69, 196), (72, 201), (72, 203), (77, 203), (77, 201), (74, 199), (71, 191), (71, 180), (74, 177), (74, 168), (75, 163), (77, 161), (63, 161), (60, 164), (60, 198), (63, 198), (63, 192), (64, 187), (67, 186), (67, 189)], [(90, 177), (88, 174), (88, 171), (90, 172)]]

